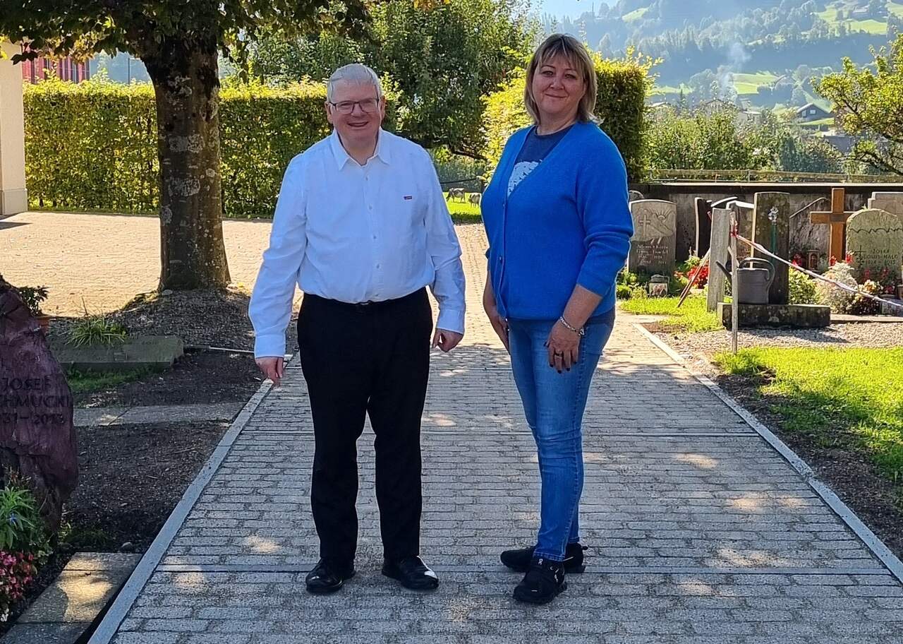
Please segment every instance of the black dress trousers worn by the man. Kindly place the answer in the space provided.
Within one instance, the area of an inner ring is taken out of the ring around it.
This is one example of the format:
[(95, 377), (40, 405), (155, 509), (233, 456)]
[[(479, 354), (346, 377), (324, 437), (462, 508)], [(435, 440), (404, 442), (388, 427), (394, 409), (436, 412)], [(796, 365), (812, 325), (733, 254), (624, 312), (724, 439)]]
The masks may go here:
[(323, 558), (349, 562), (357, 549), (357, 441), (365, 414), (376, 434), (384, 554), (419, 554), (420, 423), (432, 330), (426, 289), (369, 304), (304, 296), (298, 346), (313, 415), (311, 506)]

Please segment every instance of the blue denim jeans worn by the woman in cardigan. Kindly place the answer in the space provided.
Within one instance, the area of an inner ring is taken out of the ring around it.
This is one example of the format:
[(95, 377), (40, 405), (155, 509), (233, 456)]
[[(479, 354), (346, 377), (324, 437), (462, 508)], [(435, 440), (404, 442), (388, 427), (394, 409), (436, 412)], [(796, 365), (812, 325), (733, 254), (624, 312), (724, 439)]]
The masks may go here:
[(554, 320), (508, 320), (511, 368), (533, 431), (542, 479), (535, 556), (564, 561), (568, 544), (580, 541), (583, 491), (583, 411), (602, 348), (614, 326), (614, 309), (587, 322), (577, 364), (559, 374), (549, 366), (545, 340)]

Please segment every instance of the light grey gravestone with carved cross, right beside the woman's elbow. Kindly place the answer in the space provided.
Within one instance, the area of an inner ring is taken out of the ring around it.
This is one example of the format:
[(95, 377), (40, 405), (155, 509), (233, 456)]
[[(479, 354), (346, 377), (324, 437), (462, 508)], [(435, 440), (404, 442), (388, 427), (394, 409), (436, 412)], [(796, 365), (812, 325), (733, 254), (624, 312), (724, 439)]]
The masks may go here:
[(630, 203), (633, 237), (627, 267), (632, 272), (667, 273), (674, 270), (677, 207), (673, 202), (641, 199)]

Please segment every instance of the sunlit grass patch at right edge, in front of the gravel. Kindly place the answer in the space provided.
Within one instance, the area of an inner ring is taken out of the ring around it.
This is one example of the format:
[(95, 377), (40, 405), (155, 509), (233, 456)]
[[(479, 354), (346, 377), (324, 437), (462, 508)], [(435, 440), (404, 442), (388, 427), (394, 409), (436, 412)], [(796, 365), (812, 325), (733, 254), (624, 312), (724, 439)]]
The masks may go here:
[(903, 485), (903, 348), (744, 349), (715, 362), (753, 377), (785, 431), (818, 447), (859, 451)]

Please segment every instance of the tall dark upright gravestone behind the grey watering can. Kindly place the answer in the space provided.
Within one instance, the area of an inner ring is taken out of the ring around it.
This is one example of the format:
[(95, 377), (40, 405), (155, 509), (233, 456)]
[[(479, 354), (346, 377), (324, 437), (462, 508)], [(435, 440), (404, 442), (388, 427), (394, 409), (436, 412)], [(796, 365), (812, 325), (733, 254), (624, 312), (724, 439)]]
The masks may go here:
[[(789, 260), (790, 194), (756, 193), (754, 204), (752, 241), (777, 257)], [(768, 304), (787, 304), (790, 297), (790, 269), (787, 264), (768, 257), (762, 251), (753, 251), (752, 256), (766, 259), (775, 267), (775, 279), (768, 289)]]

